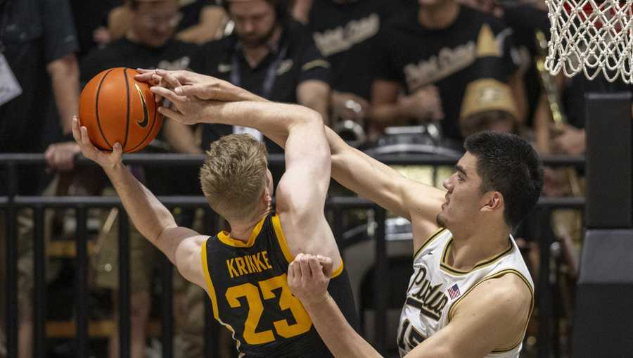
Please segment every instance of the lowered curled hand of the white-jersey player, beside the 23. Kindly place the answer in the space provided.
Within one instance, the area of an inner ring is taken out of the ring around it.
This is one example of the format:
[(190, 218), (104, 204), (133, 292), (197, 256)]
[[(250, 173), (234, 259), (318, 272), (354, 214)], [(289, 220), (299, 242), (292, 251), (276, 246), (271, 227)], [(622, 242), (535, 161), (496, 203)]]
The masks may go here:
[(328, 298), (332, 259), (299, 254), (288, 265), (288, 286), (303, 305), (316, 305)]

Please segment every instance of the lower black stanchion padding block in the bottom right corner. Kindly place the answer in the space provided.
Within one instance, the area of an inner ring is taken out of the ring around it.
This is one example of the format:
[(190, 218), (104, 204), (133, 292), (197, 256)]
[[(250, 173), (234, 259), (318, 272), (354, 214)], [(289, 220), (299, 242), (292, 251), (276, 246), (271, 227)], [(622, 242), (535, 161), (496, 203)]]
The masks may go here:
[(575, 297), (573, 357), (631, 357), (633, 229), (587, 230)]

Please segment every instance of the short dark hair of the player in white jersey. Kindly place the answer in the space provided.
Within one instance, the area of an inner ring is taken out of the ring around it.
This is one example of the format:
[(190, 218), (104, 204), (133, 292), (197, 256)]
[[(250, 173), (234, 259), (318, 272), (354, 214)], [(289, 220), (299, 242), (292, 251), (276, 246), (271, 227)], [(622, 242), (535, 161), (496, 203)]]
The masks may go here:
[(543, 166), (534, 148), (514, 134), (480, 132), (466, 138), (466, 151), (477, 158), (482, 193), (504, 196), (504, 220), (511, 228), (535, 207), (543, 188)]

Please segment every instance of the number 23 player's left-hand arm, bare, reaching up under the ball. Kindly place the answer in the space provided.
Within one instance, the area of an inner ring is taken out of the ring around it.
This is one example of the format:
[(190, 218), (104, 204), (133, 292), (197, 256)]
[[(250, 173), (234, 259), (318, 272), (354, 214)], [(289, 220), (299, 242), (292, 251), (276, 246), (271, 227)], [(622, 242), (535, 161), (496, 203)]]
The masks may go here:
[(136, 229), (165, 253), (186, 279), (205, 288), (200, 264), (205, 236), (176, 224), (170, 210), (123, 165), (120, 143), (115, 143), (112, 153), (99, 151), (90, 142), (86, 127), (79, 126), (77, 117), (72, 120), (72, 135), (82, 154), (103, 167)]

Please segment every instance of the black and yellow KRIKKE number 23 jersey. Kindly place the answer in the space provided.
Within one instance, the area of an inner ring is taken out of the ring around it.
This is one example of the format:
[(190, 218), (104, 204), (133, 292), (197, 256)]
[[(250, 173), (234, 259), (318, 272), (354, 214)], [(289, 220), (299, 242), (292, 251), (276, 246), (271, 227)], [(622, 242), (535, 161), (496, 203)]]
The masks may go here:
[[(293, 259), (274, 213), (255, 226), (247, 243), (222, 231), (203, 245), (213, 315), (233, 333), (240, 357), (332, 357), (288, 287), (288, 264)], [(334, 271), (328, 292), (356, 328), (343, 263)]]

